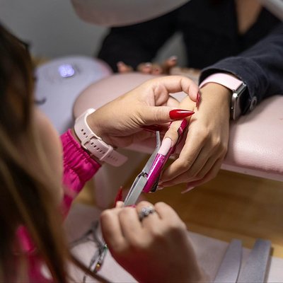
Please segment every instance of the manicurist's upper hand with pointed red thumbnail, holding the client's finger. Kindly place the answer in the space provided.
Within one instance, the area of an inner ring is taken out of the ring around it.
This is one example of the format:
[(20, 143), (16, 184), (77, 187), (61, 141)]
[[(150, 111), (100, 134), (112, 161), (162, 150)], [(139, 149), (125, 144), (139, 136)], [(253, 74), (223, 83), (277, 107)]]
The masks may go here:
[[(197, 100), (198, 86), (190, 79), (183, 76), (151, 79), (93, 112), (88, 116), (88, 125), (106, 143), (128, 146), (153, 135), (144, 130), (146, 126), (167, 123), (168, 127), (168, 122), (192, 115), (192, 111), (176, 110), (179, 103), (169, 93), (179, 91)], [(171, 137), (172, 145), (177, 138)]]

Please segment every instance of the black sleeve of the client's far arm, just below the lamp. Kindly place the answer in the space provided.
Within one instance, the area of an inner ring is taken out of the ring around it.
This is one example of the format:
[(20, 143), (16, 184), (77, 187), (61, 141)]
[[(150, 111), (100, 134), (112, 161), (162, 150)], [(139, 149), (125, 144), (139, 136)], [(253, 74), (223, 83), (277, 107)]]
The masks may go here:
[(134, 69), (141, 62), (151, 62), (156, 52), (175, 32), (175, 11), (151, 21), (111, 28), (102, 42), (98, 58), (117, 71), (122, 61)]

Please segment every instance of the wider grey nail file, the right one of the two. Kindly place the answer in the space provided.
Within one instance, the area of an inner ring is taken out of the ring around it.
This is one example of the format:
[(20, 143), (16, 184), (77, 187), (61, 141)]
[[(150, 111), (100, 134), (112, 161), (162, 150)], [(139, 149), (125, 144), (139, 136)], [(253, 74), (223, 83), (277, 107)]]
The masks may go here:
[(246, 264), (241, 269), (237, 282), (261, 283), (265, 282), (265, 273), (270, 259), (271, 242), (257, 239), (253, 250), (250, 251)]

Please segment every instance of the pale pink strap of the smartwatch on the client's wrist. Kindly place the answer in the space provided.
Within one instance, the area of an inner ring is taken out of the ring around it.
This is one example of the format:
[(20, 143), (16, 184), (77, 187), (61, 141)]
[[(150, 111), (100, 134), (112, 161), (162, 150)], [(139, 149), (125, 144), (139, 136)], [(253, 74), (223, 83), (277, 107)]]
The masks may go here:
[(207, 83), (219, 83), (222, 86), (231, 89), (231, 91), (236, 91), (243, 84), (243, 81), (240, 81), (229, 74), (216, 73), (208, 76), (207, 79), (204, 79), (204, 81), (200, 83), (200, 88)]

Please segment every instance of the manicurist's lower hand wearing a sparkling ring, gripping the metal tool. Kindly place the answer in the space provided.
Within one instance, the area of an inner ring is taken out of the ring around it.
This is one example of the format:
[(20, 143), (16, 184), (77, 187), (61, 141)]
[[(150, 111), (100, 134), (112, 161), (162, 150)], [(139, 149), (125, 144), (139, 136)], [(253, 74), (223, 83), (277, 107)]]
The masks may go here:
[(167, 204), (143, 201), (136, 208), (107, 209), (100, 221), (113, 258), (138, 282), (204, 279), (185, 224)]

